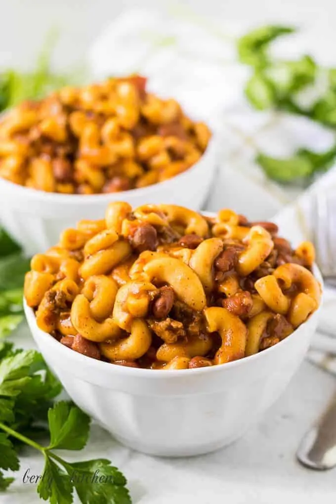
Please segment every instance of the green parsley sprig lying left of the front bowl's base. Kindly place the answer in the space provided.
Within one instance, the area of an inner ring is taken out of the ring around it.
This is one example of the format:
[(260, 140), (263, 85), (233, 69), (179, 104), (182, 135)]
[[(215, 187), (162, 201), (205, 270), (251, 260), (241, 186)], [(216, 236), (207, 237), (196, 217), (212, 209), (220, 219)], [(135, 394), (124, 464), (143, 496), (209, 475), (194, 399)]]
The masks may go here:
[[(0, 490), (12, 483), (4, 471), (18, 471), (18, 449), (28, 445), (44, 457), (37, 492), (51, 504), (71, 504), (74, 490), (84, 504), (130, 504), (126, 479), (107, 459), (68, 462), (54, 450), (82, 450), (90, 417), (69, 401), (52, 405), (61, 390), (35, 350), (0, 344)], [(45, 428), (47, 422), (48, 429)], [(50, 442), (38, 442), (49, 432)]]

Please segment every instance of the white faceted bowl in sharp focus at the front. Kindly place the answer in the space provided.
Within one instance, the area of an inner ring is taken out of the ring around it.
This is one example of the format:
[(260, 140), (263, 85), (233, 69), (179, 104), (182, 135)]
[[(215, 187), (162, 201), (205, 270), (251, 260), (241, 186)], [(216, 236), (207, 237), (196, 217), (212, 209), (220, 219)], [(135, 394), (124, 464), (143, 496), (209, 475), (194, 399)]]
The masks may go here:
[(25, 303), (33, 338), (73, 401), (120, 443), (174, 457), (228, 445), (278, 399), (309, 347), (318, 311), (288, 338), (250, 357), (164, 371), (113, 365), (70, 350), (37, 327)]

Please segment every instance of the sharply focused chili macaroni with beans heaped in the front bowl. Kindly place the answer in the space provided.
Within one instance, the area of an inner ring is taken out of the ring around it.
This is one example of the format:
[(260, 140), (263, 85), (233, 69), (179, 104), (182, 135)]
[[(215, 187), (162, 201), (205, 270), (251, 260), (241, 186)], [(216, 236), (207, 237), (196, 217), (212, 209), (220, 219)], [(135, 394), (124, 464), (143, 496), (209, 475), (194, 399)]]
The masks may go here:
[[(124, 123), (136, 120), (123, 114)], [(51, 126), (48, 134), (61, 134)], [(104, 136), (114, 135), (110, 121)], [(155, 142), (144, 144), (151, 159)], [(312, 244), (286, 242), (283, 264), (275, 229), (228, 209), (205, 218), (176, 205), (113, 202), (105, 219), (79, 222), (33, 257), (26, 301), (40, 329), (68, 347), (80, 335), (81, 351), (95, 358), (167, 370), (224, 364), (278, 343), (319, 306)]]

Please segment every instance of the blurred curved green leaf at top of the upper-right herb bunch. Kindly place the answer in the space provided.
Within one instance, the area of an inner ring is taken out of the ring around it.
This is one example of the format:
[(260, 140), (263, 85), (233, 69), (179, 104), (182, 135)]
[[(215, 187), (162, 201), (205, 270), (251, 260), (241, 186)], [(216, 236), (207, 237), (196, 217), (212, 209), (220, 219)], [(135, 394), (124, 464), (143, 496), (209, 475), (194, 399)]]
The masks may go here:
[(239, 60), (253, 67), (264, 67), (268, 61), (268, 45), (278, 37), (293, 33), (294, 28), (288, 26), (262, 26), (238, 40)]

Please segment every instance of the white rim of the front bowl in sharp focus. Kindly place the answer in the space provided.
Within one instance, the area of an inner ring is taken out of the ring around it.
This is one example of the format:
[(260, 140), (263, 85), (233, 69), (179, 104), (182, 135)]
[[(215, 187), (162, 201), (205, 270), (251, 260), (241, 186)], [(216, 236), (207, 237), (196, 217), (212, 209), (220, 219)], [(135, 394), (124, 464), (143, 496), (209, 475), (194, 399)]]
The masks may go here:
[[(317, 280), (320, 282), (321, 286), (323, 287), (322, 276), (321, 276), (321, 273), (316, 265), (314, 265), (313, 272), (314, 272), (314, 276), (317, 278)], [(264, 355), (268, 355), (271, 352), (277, 352), (277, 348), (279, 349), (280, 347), (284, 347), (285, 345), (289, 345), (290, 340), (292, 338), (299, 338), (300, 333), (304, 331), (304, 327), (307, 324), (307, 322), (310, 321), (311, 319), (315, 319), (318, 317), (318, 313), (321, 309), (321, 305), (322, 305), (322, 301), (321, 301), (319, 307), (317, 308), (317, 310), (311, 314), (311, 316), (307, 319), (307, 321), (304, 322), (303, 324), (301, 324), (301, 326), (299, 326), (287, 338), (280, 341), (276, 345), (273, 345), (269, 348), (266, 348), (265, 350), (262, 350), (262, 352), (258, 352), (253, 355), (249, 355), (248, 357), (243, 357), (241, 359), (227, 362), (225, 364), (217, 364), (214, 366), (207, 366), (207, 367), (198, 367), (198, 368), (194, 368), (194, 369), (170, 369), (169, 372), (168, 371), (165, 372), (162, 369), (146, 369), (146, 368), (142, 368), (142, 367), (135, 368), (135, 367), (128, 367), (128, 366), (120, 366), (120, 365), (115, 365), (115, 364), (113, 365), (109, 362), (93, 359), (93, 358), (87, 357), (81, 353), (75, 352), (74, 350), (70, 350), (69, 348), (66, 348), (64, 345), (59, 343), (55, 338), (53, 338), (49, 333), (45, 333), (44, 331), (42, 331), (39, 328), (38, 328), (38, 331), (41, 334), (45, 335), (46, 338), (49, 339), (49, 343), (51, 345), (54, 345), (55, 352), (57, 352), (57, 351), (60, 352), (60, 358), (62, 358), (62, 356), (63, 356), (66, 359), (74, 359), (74, 362), (76, 364), (78, 364), (80, 367), (85, 366), (86, 368), (88, 368), (88, 366), (91, 366), (91, 367), (95, 368), (97, 371), (104, 370), (104, 371), (108, 372), (108, 370), (109, 370), (110, 372), (116, 372), (116, 373), (119, 373), (119, 374), (125, 375), (125, 376), (133, 376), (133, 377), (138, 376), (139, 379), (141, 377), (147, 376), (147, 377), (153, 377), (154, 379), (160, 380), (160, 378), (166, 379), (167, 374), (169, 376), (176, 377), (178, 375), (181, 376), (183, 374), (185, 376), (190, 376), (190, 374), (195, 375), (195, 374), (203, 374), (203, 373), (216, 373), (219, 371), (224, 371), (225, 369), (229, 370), (234, 367), (244, 366), (244, 363), (247, 364), (248, 362), (256, 361), (258, 359), (262, 360), (264, 358), (263, 357)], [(35, 325), (37, 327), (34, 311), (32, 308), (30, 308), (27, 305), (25, 299), (24, 299), (24, 310), (25, 310), (26, 318), (27, 318), (29, 325)]]

